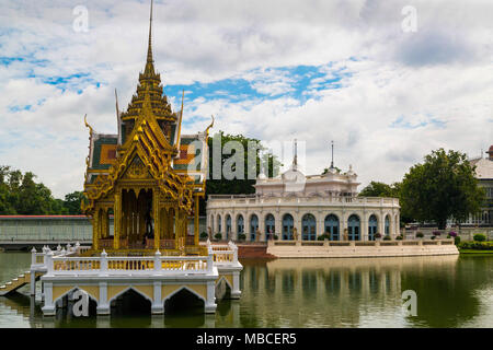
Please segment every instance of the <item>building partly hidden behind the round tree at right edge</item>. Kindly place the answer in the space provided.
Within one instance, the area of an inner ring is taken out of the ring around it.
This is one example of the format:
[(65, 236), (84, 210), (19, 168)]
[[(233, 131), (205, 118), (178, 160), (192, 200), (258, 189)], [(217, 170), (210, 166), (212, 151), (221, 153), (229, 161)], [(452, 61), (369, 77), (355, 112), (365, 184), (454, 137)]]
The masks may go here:
[(489, 158), (478, 158), (470, 160), (471, 165), (475, 166), (475, 178), (479, 180), (479, 186), (486, 190), (486, 201), (481, 209), (481, 212), (475, 215), (470, 215), (466, 225), (493, 225), (493, 145), (486, 152)]

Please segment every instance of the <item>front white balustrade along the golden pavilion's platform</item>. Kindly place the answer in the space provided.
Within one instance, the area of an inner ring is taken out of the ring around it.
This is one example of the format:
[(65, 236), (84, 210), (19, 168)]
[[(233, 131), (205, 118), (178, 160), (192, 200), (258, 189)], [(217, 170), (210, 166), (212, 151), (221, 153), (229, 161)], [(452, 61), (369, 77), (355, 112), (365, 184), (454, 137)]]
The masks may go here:
[(214, 255), (108, 257), (103, 250), (99, 257), (45, 256), (46, 276), (135, 276), (135, 275), (208, 275), (214, 272)]

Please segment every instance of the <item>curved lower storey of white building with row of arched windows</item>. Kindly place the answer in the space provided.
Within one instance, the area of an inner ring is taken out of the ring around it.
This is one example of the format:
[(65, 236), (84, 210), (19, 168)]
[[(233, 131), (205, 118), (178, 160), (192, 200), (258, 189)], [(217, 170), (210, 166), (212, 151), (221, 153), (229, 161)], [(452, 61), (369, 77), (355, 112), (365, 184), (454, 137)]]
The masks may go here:
[[(233, 201), (233, 200), (232, 200)], [(243, 200), (244, 201), (244, 200)], [(266, 241), (271, 233), (279, 241), (316, 241), (328, 234), (331, 241), (374, 241), (376, 234), (399, 235), (398, 200), (380, 206), (263, 206), (249, 200), (243, 206), (222, 206), (214, 198), (207, 203), (207, 228), (223, 240)]]

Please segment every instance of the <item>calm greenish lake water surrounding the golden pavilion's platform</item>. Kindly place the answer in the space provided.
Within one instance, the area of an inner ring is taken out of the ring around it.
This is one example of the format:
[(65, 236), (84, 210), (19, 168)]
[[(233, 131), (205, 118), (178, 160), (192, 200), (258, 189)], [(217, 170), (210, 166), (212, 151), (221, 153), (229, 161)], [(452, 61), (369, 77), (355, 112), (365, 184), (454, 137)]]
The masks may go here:
[[(30, 254), (0, 253), (0, 281), (30, 261)], [(0, 298), (0, 327), (493, 327), (493, 256), (241, 262), (243, 295), (219, 301), (216, 315), (151, 316), (144, 303), (125, 316), (43, 317), (39, 302), (16, 294)], [(405, 290), (416, 292), (416, 316), (403, 307)]]

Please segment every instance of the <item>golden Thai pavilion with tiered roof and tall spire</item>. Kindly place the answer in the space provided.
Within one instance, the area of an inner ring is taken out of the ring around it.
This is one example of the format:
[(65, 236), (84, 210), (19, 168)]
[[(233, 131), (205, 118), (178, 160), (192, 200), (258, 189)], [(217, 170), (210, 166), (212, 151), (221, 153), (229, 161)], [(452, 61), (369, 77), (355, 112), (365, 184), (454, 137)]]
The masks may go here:
[[(116, 135), (90, 129), (83, 212), (93, 225), (93, 250), (161, 249), (198, 254), (198, 200), (205, 194), (208, 129), (182, 135), (183, 96), (173, 112), (149, 47), (137, 92), (118, 109)], [(114, 215), (114, 232), (110, 215)], [(187, 222), (194, 217), (194, 232)]]

